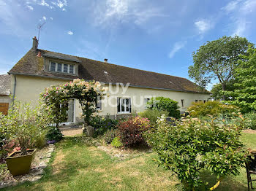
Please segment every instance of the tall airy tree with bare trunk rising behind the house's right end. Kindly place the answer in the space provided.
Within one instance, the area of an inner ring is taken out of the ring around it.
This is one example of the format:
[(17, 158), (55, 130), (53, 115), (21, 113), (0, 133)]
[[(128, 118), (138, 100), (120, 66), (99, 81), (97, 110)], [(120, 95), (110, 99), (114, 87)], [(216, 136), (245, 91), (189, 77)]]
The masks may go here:
[(189, 66), (189, 77), (201, 87), (206, 87), (212, 79), (218, 79), (225, 91), (238, 66), (238, 55), (244, 55), (249, 44), (246, 38), (239, 36), (223, 36), (203, 44), (192, 53), (194, 65)]

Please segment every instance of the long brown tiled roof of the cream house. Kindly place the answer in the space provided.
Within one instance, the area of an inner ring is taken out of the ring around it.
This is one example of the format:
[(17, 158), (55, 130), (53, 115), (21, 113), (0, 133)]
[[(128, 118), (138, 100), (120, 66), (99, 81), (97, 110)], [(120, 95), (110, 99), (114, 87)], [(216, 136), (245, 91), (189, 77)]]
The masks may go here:
[[(28, 74), (42, 77), (54, 77), (64, 79), (81, 78), (86, 80), (96, 80), (108, 83), (129, 83), (135, 87), (148, 87), (166, 90), (176, 90), (192, 93), (209, 93), (207, 90), (200, 89), (195, 83), (182, 77), (174, 77), (167, 74), (159, 74), (152, 71), (132, 69), (112, 63), (94, 61), (78, 56), (64, 55), (48, 50), (40, 50), (42, 57), (37, 57), (37, 52), (29, 50), (23, 58), (16, 63), (9, 71), (10, 74)], [(78, 63), (78, 76), (68, 74), (57, 74), (44, 71), (43, 57), (59, 58)]]

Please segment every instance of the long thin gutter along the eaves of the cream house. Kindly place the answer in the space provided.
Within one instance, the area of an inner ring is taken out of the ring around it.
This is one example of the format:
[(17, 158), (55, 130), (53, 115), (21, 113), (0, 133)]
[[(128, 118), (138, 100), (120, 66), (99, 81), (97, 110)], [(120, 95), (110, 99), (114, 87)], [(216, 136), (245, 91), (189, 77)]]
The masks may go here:
[[(35, 75), (35, 74), (24, 74), (24, 73), (8, 73), (8, 74), (17, 74), (17, 75), (25, 75), (25, 76), (31, 76), (31, 77), (43, 77), (43, 78), (53, 78), (53, 79), (64, 79), (64, 80), (72, 80), (74, 78), (66, 78), (66, 77), (49, 77), (49, 76), (42, 76), (42, 75)], [(76, 76), (78, 77), (78, 76)], [(89, 81), (89, 79), (85, 79), (86, 81)], [(112, 84), (112, 85), (119, 85), (121, 82), (100, 82), (105, 84)], [(148, 88), (148, 89), (154, 89), (154, 90), (168, 90), (168, 91), (175, 91), (175, 92), (184, 92), (184, 93), (199, 93), (199, 94), (211, 94), (211, 93), (201, 93), (201, 92), (194, 92), (194, 91), (186, 91), (186, 90), (173, 90), (163, 87), (147, 87), (147, 86), (141, 86), (141, 85), (129, 85), (129, 87), (140, 87), (140, 88)]]

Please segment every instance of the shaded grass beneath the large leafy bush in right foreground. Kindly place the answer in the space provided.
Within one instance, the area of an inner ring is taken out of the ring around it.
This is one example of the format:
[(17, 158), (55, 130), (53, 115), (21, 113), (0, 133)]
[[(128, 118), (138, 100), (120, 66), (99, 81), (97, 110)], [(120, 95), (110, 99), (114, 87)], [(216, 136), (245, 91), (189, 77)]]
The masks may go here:
[[(209, 190), (210, 187), (214, 186), (214, 184), (217, 183), (217, 176), (211, 175), (209, 171), (202, 171), (201, 178), (203, 179), (203, 182), (208, 184), (205, 187), (201, 187), (200, 190)], [(235, 177), (227, 176), (225, 179), (220, 182), (219, 187), (217, 187), (216, 190), (219, 191), (244, 191), (247, 190), (247, 187), (245, 184), (242, 184), (241, 182), (238, 182)]]

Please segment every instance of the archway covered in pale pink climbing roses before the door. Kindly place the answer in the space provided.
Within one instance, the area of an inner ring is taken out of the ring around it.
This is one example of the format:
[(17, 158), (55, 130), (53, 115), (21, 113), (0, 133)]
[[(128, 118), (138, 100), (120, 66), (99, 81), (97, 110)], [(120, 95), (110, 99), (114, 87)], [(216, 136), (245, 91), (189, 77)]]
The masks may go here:
[(68, 100), (78, 99), (82, 108), (82, 117), (87, 124), (92, 114), (97, 112), (97, 99), (104, 98), (106, 90), (106, 87), (102, 87), (100, 82), (74, 79), (63, 85), (51, 85), (45, 88), (45, 92), (41, 93), (41, 98), (53, 115), (53, 122), (57, 126), (60, 122), (67, 120)]

